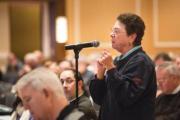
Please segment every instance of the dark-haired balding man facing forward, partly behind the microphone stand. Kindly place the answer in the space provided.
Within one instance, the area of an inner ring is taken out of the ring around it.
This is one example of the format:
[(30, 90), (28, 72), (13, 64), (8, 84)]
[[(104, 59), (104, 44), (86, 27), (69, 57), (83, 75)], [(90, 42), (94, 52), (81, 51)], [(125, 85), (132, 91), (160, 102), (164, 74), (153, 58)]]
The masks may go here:
[[(75, 70), (67, 69), (61, 72), (60, 80), (62, 82), (64, 92), (71, 105), (77, 105), (76, 99), (76, 79)], [(78, 108), (83, 111), (89, 119), (97, 119), (96, 112), (91, 104), (90, 99), (84, 91), (84, 84), (81, 74), (78, 74)]]

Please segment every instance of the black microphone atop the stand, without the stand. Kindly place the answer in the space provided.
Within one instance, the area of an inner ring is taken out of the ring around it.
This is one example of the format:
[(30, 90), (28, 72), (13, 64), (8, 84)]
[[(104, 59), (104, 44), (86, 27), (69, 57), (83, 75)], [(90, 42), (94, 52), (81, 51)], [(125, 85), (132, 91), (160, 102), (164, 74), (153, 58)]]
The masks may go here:
[(82, 48), (87, 48), (87, 47), (98, 47), (99, 44), (100, 44), (99, 41), (95, 40), (92, 42), (80, 43), (75, 45), (66, 45), (65, 50), (71, 50), (71, 49), (81, 50)]

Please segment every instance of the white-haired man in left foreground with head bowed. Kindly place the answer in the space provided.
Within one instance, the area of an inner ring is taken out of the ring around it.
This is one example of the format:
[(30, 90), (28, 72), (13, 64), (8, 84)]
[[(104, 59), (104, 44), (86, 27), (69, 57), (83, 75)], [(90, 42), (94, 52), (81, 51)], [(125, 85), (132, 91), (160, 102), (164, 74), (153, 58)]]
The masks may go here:
[(34, 120), (87, 120), (83, 112), (69, 105), (60, 80), (47, 68), (27, 73), (15, 89)]

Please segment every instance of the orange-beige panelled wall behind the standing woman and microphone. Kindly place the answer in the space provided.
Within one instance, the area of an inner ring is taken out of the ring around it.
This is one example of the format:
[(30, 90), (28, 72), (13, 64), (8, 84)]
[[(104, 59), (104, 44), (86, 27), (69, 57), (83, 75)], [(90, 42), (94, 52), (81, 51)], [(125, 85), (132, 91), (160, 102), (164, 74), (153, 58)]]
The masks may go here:
[[(110, 29), (117, 15), (133, 12), (140, 14), (145, 21), (143, 47), (148, 54), (154, 57), (161, 51), (179, 53), (179, 4), (178, 0), (67, 0), (67, 44), (97, 39), (101, 46), (84, 49), (83, 55), (100, 52), (103, 48), (108, 48), (115, 55), (117, 52), (111, 49), (109, 40)], [(67, 55), (73, 53), (68, 52)]]

